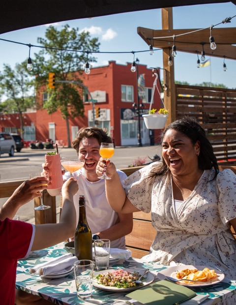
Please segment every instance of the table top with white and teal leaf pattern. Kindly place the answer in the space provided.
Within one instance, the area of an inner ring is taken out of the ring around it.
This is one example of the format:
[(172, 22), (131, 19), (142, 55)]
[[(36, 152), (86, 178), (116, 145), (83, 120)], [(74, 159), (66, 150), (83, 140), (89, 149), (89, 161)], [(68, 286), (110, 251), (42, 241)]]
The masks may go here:
[[(74, 274), (71, 273), (65, 277), (57, 279), (41, 278), (38, 275), (29, 274), (29, 268), (32, 266), (49, 261), (52, 258), (58, 257), (67, 253), (64, 249), (64, 243), (60, 243), (49, 247), (47, 249), (34, 251), (29, 254), (26, 260), (19, 260), (17, 266), (16, 288), (24, 290), (28, 293), (40, 296), (59, 305), (76, 305), (83, 303), (84, 305), (91, 304), (106, 304), (111, 305), (118, 301), (125, 302), (129, 300), (125, 297), (128, 294), (125, 292), (111, 292), (98, 288), (93, 288), (92, 299), (80, 301), (76, 294)], [(156, 275), (159, 271), (166, 269), (167, 266), (159, 265), (156, 263), (147, 263), (141, 259), (130, 258), (128, 260), (119, 260), (110, 267), (129, 268), (129, 269), (146, 269), (149, 268), (150, 272)], [(156, 279), (158, 280), (158, 279)], [(208, 294), (209, 297), (201, 305), (213, 305), (221, 300), (225, 300), (230, 296), (236, 294), (236, 281), (230, 281), (225, 278), (224, 281), (205, 287), (195, 287), (193, 290), (197, 294)], [(183, 304), (183, 303), (182, 303)], [(189, 304), (188, 301), (184, 302), (185, 305)]]

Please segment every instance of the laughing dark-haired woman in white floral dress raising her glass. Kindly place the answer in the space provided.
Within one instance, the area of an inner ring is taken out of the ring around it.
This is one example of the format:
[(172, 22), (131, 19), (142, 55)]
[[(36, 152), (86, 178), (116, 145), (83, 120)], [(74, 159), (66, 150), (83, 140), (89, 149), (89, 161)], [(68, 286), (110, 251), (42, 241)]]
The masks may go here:
[[(201, 125), (177, 120), (163, 132), (162, 162), (154, 162), (119, 182), (113, 163), (106, 170), (106, 195), (118, 213), (151, 212), (157, 234), (148, 261), (166, 265), (202, 265), (236, 280), (236, 175), (219, 171)], [(234, 297), (220, 304), (236, 304)]]

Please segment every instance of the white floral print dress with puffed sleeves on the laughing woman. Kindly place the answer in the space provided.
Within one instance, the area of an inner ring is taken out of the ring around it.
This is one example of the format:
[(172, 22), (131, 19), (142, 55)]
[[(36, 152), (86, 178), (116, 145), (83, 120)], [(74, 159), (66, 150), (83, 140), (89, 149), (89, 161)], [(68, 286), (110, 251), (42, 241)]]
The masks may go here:
[[(150, 178), (154, 162), (124, 181), (126, 195), (139, 210), (151, 212), (156, 237), (143, 259), (160, 264), (209, 266), (236, 280), (236, 175), (228, 169), (205, 170), (191, 195), (175, 210), (171, 172)], [(221, 304), (236, 304), (221, 303)]]

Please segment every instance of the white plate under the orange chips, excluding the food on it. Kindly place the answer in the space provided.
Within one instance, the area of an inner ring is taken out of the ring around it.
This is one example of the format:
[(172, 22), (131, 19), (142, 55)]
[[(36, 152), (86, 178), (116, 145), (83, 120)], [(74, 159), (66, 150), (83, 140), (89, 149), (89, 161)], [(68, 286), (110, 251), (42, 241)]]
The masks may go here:
[[(158, 276), (159, 279), (166, 279), (165, 275), (177, 278), (176, 274), (181, 270), (197, 269), (197, 270), (201, 271), (201, 270), (204, 270), (204, 268), (208, 268), (210, 270), (214, 269), (212, 267), (207, 267), (207, 266), (182, 265), (182, 266), (169, 267), (165, 270), (159, 271), (157, 276)], [(215, 273), (217, 274), (217, 276), (210, 280), (211, 281), (210, 284), (207, 284), (207, 283), (204, 283), (204, 282), (202, 282), (202, 283), (192, 282), (191, 284), (186, 284), (183, 281), (177, 282), (177, 284), (182, 285), (182, 286), (194, 286), (194, 287), (209, 286), (209, 285), (217, 284), (224, 279), (225, 275), (217, 269), (214, 269), (214, 270), (215, 270)]]

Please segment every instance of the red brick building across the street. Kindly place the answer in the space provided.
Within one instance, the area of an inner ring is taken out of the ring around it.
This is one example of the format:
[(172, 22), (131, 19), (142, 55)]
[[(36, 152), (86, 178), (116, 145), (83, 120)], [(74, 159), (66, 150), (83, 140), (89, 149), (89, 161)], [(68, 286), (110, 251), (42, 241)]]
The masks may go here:
[[(137, 145), (138, 114), (132, 107), (137, 104), (137, 79), (136, 73), (131, 72), (131, 63), (126, 65), (109, 61), (106, 66), (91, 68), (90, 74), (83, 74), (83, 84), (88, 87), (89, 92), (97, 103), (95, 108), (100, 108), (100, 116), (95, 118), (98, 127), (106, 127), (115, 139), (117, 146)], [(151, 91), (154, 78), (152, 72), (146, 65), (139, 64), (139, 74), (145, 74), (146, 98), (140, 99), (145, 105), (141, 113), (141, 139), (142, 144), (151, 144), (149, 135), (159, 136), (160, 130), (149, 130), (146, 128), (142, 114), (148, 112)], [(90, 97), (89, 97), (90, 98)], [(38, 92), (37, 99), (47, 99), (46, 92)], [(76, 137), (78, 129), (82, 126), (93, 125), (92, 103), (85, 102), (84, 117), (69, 118), (70, 137)], [(161, 100), (158, 92), (154, 94), (152, 108), (161, 108)], [(26, 112), (23, 115), (24, 140), (42, 141), (47, 138), (63, 141), (67, 145), (67, 131), (65, 120), (62, 119), (60, 111), (49, 115), (46, 110)], [(6, 132), (17, 132), (20, 128), (18, 114), (0, 115), (0, 130)], [(157, 142), (158, 140), (156, 140)], [(153, 144), (153, 143), (152, 143)]]

